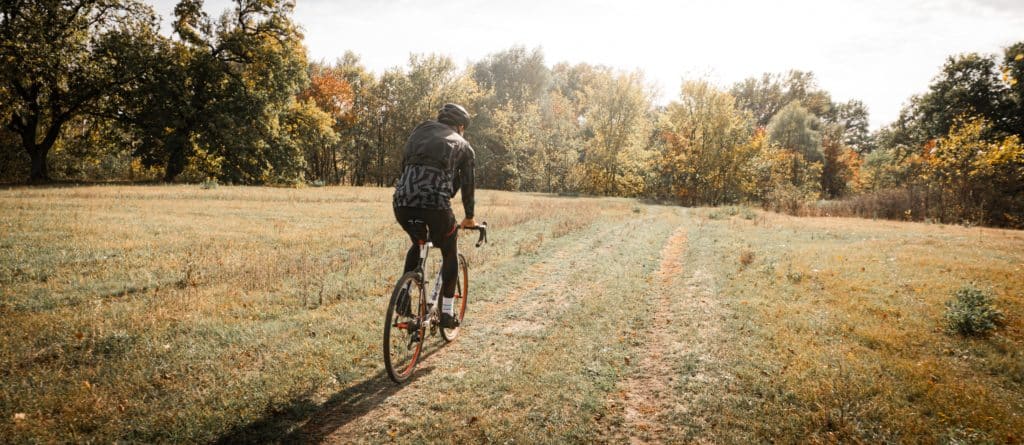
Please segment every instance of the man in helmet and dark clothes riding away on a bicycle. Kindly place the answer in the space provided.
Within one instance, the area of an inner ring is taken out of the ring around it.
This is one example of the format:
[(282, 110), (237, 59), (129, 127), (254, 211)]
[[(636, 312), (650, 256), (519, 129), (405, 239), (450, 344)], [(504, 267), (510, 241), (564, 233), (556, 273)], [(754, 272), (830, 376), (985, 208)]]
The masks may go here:
[[(473, 221), (473, 161), (476, 154), (462, 137), (467, 127), (469, 113), (455, 103), (445, 103), (437, 112), (436, 120), (418, 125), (406, 141), (401, 178), (395, 185), (392, 201), (395, 219), (413, 240), (406, 255), (404, 272), (419, 265), (418, 243), (426, 239), (424, 226), (430, 228), (430, 241), (441, 250), (440, 325), (446, 328), (459, 326), (453, 308), (459, 267), (458, 229), (476, 226)], [(466, 218), (457, 224), (450, 202), (460, 188)], [(408, 295), (404, 301), (399, 298), (398, 311), (411, 315)]]

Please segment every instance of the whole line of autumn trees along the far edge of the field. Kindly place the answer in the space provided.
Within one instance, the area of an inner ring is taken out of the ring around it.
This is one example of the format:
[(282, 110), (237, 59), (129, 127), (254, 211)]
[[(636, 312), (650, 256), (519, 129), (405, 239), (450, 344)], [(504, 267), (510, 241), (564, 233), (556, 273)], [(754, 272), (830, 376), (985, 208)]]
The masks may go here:
[(170, 37), (134, 1), (0, 8), (6, 180), (385, 186), (413, 127), (454, 101), (483, 187), (1024, 226), (1024, 43), (950, 57), (872, 133), (808, 72), (685, 81), (658, 105), (641, 72), (523, 47), (380, 75), (350, 52), (309, 62), (290, 2), (214, 18), (183, 0)]

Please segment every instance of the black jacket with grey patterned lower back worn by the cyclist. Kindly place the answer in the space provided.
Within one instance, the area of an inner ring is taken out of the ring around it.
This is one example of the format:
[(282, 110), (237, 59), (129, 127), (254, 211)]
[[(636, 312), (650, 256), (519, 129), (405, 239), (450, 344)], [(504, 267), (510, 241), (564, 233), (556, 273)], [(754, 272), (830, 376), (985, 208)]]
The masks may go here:
[(452, 127), (436, 121), (420, 124), (406, 142), (393, 206), (451, 209), (450, 201), (461, 188), (466, 218), (472, 218), (475, 158), (473, 147)]

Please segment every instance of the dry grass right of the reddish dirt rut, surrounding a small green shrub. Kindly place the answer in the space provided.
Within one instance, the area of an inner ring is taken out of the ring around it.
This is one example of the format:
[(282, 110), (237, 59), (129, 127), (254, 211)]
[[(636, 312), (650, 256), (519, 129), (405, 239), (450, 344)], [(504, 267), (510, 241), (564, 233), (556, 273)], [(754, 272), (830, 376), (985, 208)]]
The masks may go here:
[[(721, 359), (735, 387), (710, 408), (732, 424), (728, 441), (1022, 440), (1024, 233), (775, 214), (705, 222), (691, 243), (722, 265), (719, 298), (733, 312)], [(757, 261), (730, 267), (746, 250)], [(943, 328), (944, 303), (967, 282), (1017, 314), (991, 339)]]

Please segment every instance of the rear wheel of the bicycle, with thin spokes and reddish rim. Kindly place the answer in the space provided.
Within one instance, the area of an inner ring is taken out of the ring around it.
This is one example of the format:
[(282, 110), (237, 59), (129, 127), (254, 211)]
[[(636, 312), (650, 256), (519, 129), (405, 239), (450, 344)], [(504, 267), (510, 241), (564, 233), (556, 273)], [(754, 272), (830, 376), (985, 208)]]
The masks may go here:
[(426, 313), (423, 279), (416, 272), (407, 272), (395, 283), (384, 316), (384, 367), (396, 384), (406, 382), (416, 369), (426, 337)]

